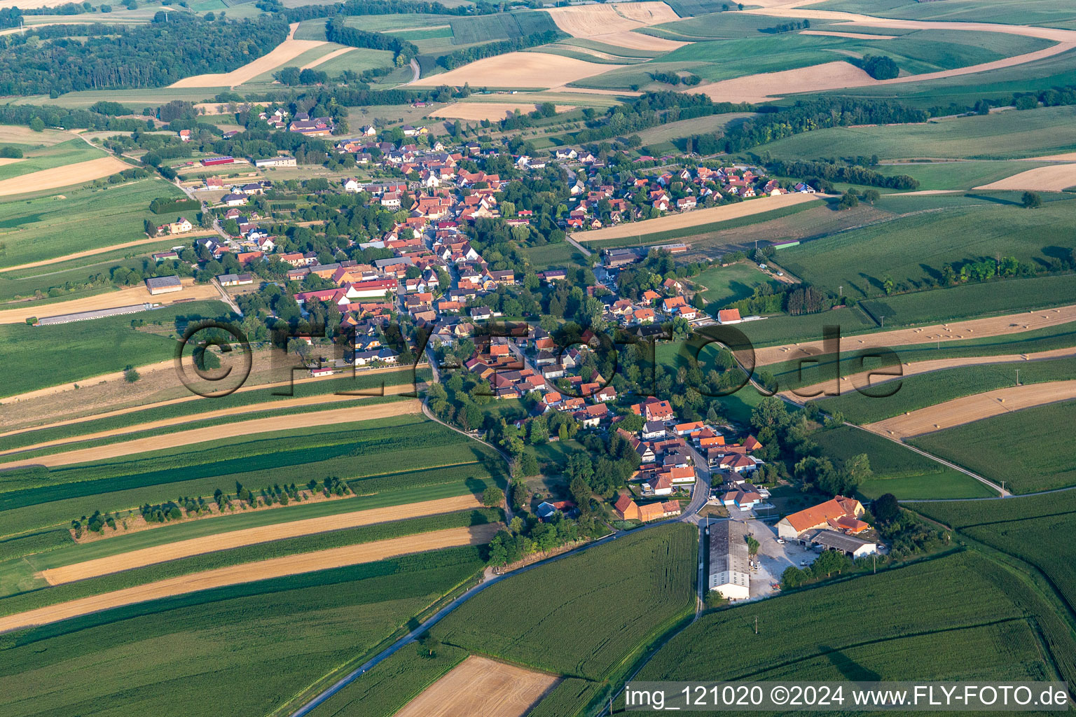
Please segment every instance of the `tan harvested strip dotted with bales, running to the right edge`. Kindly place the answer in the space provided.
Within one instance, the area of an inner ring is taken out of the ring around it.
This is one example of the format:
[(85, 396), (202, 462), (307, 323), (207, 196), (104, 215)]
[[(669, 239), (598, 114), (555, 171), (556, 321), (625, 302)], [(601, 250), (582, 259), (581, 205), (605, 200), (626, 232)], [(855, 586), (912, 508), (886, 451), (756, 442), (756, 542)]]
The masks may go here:
[[(841, 350), (859, 350), (861, 348), (878, 348), (891, 346), (911, 346), (931, 344), (961, 339), (980, 339), (985, 336), (1002, 336), (1024, 333), (1059, 324), (1076, 320), (1076, 306), (1059, 309), (1040, 309), (1038, 311), (991, 316), (967, 321), (953, 321), (934, 326), (923, 326), (896, 331), (881, 331), (862, 335), (844, 336)], [(754, 352), (756, 365), (768, 365), (781, 361), (791, 361), (805, 356), (818, 356), (822, 353), (822, 342), (805, 342), (802, 344), (785, 344), (783, 346), (767, 346)]]

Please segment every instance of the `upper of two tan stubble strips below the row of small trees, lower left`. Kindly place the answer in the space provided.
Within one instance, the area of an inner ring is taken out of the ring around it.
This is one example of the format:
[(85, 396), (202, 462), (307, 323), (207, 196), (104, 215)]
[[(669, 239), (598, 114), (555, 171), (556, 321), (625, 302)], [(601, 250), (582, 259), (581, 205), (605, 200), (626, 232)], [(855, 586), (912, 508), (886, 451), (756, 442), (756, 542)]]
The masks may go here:
[[(422, 503), (374, 507), (368, 511), (356, 510), (354, 513), (327, 515), (306, 520), (292, 520), (291, 522), (277, 522), (269, 526), (258, 526), (257, 528), (245, 528), (243, 530), (216, 533), (215, 535), (203, 535), (186, 541), (176, 541), (175, 543), (157, 545), (141, 550), (131, 550), (130, 553), (121, 553), (119, 555), (98, 558), (96, 560), (86, 560), (85, 562), (76, 562), (61, 568), (52, 568), (42, 571), (41, 576), (48, 580), (49, 585), (60, 585), (62, 583), (84, 580), (87, 577), (118, 573), (124, 570), (131, 570), (132, 568), (143, 568), (168, 560), (189, 558), (194, 555), (228, 550), (244, 545), (268, 543), (286, 537), (298, 537), (299, 535), (312, 535), (331, 530), (372, 526), (378, 522), (388, 522), (390, 520), (404, 520), (406, 518), (421, 518), (442, 513), (455, 513), (456, 511), (478, 507), (482, 507), (482, 501), (477, 496), (468, 493), (466, 496), (442, 498)], [(221, 518), (206, 519), (214, 520)]]

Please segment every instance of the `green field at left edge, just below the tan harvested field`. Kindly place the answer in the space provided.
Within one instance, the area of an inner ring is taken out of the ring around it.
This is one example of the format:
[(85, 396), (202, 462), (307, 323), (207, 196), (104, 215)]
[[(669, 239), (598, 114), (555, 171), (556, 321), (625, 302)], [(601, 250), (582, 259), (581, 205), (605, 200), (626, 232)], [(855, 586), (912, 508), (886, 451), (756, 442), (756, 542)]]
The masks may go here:
[[(77, 142), (89, 149), (82, 140)], [(0, 252), (0, 269), (144, 240), (143, 220), (164, 220), (150, 212), (150, 202), (157, 197), (182, 196), (168, 182), (150, 177), (108, 189), (73, 189), (65, 199), (54, 196), (0, 203), (0, 242), (6, 245)], [(39, 267), (33, 273), (58, 268)], [(43, 281), (46, 288), (55, 286), (51, 277)]]

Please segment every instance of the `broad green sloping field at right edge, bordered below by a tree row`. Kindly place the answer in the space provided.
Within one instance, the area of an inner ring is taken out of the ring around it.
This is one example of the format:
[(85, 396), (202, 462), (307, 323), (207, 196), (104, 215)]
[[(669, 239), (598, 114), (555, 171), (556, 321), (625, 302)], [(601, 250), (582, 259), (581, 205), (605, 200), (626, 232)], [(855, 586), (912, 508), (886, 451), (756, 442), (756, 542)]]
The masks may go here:
[[(895, 200), (894, 200), (895, 201)], [(1063, 227), (1076, 200), (1046, 203), (1028, 211), (1019, 205), (955, 207), (911, 214), (880, 225), (806, 242), (781, 252), (781, 266), (796, 276), (845, 296), (884, 296), (891, 278), (909, 289), (937, 282), (942, 267), (1015, 256), (1039, 270), (1076, 247)]]

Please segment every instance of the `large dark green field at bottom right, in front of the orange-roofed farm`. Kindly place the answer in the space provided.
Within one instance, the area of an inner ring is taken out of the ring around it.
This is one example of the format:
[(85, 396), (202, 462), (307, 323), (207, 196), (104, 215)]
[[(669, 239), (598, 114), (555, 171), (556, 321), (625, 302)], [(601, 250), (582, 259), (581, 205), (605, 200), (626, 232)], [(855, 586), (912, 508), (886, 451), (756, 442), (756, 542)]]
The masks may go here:
[[(848, 605), (853, 630), (837, 627)], [(1029, 612), (1049, 623), (1045, 660)], [(731, 644), (737, 659), (713, 659)], [(1073, 673), (1073, 644), (1017, 574), (963, 553), (709, 613), (635, 679), (1054, 679), (1053, 663)]]

